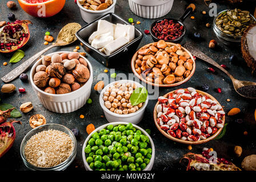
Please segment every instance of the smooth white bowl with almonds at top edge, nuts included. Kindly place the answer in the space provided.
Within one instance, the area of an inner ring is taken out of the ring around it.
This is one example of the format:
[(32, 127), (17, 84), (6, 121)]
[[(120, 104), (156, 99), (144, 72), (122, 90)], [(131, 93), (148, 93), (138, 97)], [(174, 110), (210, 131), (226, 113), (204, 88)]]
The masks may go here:
[(77, 5), (82, 19), (91, 23), (105, 14), (114, 13), (115, 3), (117, 0), (78, 0)]

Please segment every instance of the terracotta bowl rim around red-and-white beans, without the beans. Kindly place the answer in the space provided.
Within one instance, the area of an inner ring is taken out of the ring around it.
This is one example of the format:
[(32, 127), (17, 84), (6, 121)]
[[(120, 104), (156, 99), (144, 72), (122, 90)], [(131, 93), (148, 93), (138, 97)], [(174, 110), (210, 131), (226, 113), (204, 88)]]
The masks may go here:
[[(187, 89), (185, 89), (185, 90), (187, 90)], [(175, 90), (173, 90), (173, 91), (171, 91), (171, 92), (165, 94), (165, 96), (163, 96), (163, 97), (166, 97), (166, 98), (167, 98), (168, 95), (169, 95), (170, 93), (172, 93), (172, 92), (175, 92)], [(201, 90), (197, 90), (197, 92), (198, 92), (199, 94), (201, 94), (202, 96), (208, 96), (208, 97), (210, 97), (211, 100), (216, 101), (217, 104), (219, 104), (219, 102), (218, 102), (213, 96), (211, 96), (210, 94), (205, 93), (205, 92), (202, 92)], [(167, 134), (165, 131), (163, 131), (163, 130), (160, 128), (160, 126), (158, 125), (158, 123), (157, 123), (157, 105), (158, 105), (158, 104), (159, 104), (159, 101), (157, 102), (157, 104), (156, 104), (155, 107), (154, 107), (154, 121), (155, 121), (155, 125), (157, 126), (157, 129), (158, 129), (163, 135), (165, 135), (166, 138), (169, 138), (169, 139), (171, 139), (171, 140), (174, 140), (174, 142), (183, 143), (183, 144), (189, 144), (189, 145), (191, 145), (191, 144), (202, 144), (202, 143), (209, 142), (210, 140), (214, 139), (215, 137), (217, 137), (217, 136), (221, 133), (222, 128), (218, 129), (215, 134), (211, 135), (211, 137), (206, 138), (206, 139), (204, 139), (204, 140), (199, 140), (199, 141), (197, 141), (197, 142), (191, 142), (191, 141), (188, 141), (188, 140), (181, 140), (181, 139), (178, 139), (178, 138), (171, 137), (171, 135), (169, 135), (169, 134)], [(221, 104), (219, 104), (219, 105), (221, 105)], [(222, 110), (223, 110), (223, 109), (222, 109)], [(225, 115), (222, 117), (222, 121), (223, 121), (223, 125), (224, 125), (224, 124), (225, 124)]]

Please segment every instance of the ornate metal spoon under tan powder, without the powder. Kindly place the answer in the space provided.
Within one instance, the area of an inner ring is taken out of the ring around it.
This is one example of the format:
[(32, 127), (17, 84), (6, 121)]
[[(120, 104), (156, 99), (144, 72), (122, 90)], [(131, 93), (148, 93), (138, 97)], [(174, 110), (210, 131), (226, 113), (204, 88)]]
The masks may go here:
[(75, 35), (74, 35), (74, 39), (73, 39), (72, 42), (65, 42), (64, 40), (61, 39), (61, 35), (63, 33), (63, 30), (65, 30), (69, 26), (74, 26), (74, 27), (79, 26), (81, 28), (81, 25), (78, 24), (78, 23), (66, 24), (64, 27), (61, 28), (61, 31), (59, 31), (59, 34), (58, 34), (58, 37), (57, 37), (57, 40), (56, 40), (55, 43), (53, 43), (51, 46), (43, 49), (42, 51), (38, 52), (34, 56), (30, 57), (30, 59), (26, 60), (24, 63), (19, 65), (17, 68), (13, 69), (13, 71), (9, 72), (7, 75), (2, 77), (1, 79), (4, 82), (10, 82), (10, 81), (14, 80), (16, 77), (18, 77), (19, 75), (21, 75), (21, 73), (25, 72), (26, 69), (29, 68), (29, 66), (32, 63), (34, 63), (35, 60), (37, 60), (41, 55), (43, 55), (43, 53), (48, 51), (50, 48), (57, 47), (57, 46), (66, 46), (68, 44), (71, 44), (71, 43), (75, 42), (75, 40), (77, 40), (77, 37)]

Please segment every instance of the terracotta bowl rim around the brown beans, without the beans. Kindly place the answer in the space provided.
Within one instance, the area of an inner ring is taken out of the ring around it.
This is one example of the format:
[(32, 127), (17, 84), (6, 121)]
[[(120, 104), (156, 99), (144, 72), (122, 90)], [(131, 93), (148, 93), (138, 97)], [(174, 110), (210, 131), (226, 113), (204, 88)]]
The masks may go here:
[[(154, 43), (157, 43), (157, 42), (154, 42)], [(146, 44), (145, 46), (143, 46), (139, 49), (148, 48), (154, 43)], [(166, 44), (169, 44), (170, 46), (175, 46), (176, 45), (175, 43), (171, 43), (171, 42), (166, 42)], [(185, 83), (186, 81), (188, 81), (193, 76), (193, 74), (195, 72), (195, 59), (194, 59), (193, 55), (189, 51), (187, 51), (187, 49), (185, 49), (184, 47), (181, 47), (181, 49), (182, 49), (182, 51), (186, 51), (187, 53), (189, 53), (190, 59), (194, 61), (193, 68), (191, 69), (190, 75), (182, 81), (175, 82), (173, 84), (168, 84), (168, 85), (166, 85), (166, 84), (159, 85), (159, 84), (154, 84), (153, 82), (145, 80), (145, 78), (143, 78), (141, 75), (139, 75), (135, 71), (135, 61), (137, 60), (139, 50), (133, 55), (133, 58), (131, 59), (131, 69), (132, 69), (134, 75), (136, 75), (141, 81), (143, 81), (143, 82), (145, 82), (146, 84), (149, 84), (149, 85), (158, 86), (158, 87), (171, 87), (171, 86), (181, 85), (181, 84)]]

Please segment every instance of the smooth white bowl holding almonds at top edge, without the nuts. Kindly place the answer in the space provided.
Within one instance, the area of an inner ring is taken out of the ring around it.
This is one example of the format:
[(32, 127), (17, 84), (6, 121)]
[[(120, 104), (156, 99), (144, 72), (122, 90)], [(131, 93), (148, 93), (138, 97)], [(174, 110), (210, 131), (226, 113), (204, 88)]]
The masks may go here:
[(95, 19), (97, 19), (105, 14), (115, 13), (115, 3), (117, 3), (117, 0), (113, 0), (113, 4), (110, 7), (108, 7), (105, 10), (100, 10), (100, 11), (87, 10), (79, 2), (77, 2), (77, 5), (80, 9), (82, 19), (87, 23), (91, 23)]

